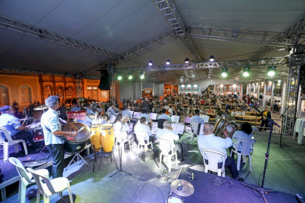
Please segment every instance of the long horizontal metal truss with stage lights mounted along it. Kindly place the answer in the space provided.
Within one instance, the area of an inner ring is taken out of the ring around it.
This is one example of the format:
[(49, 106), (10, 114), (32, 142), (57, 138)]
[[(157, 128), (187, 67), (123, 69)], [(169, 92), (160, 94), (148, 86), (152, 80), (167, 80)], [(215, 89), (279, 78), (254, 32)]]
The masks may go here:
[[(286, 57), (266, 58), (266, 59), (247, 59), (247, 60), (234, 60), (234, 61), (220, 61), (220, 62), (199, 62), (188, 64), (171, 64), (162, 66), (143, 66), (131, 68), (116, 68), (113, 73), (123, 72), (140, 72), (140, 71), (165, 71), (165, 70), (181, 70), (181, 69), (210, 69), (210, 68), (223, 68), (223, 67), (241, 67), (241, 66), (266, 66), (286, 64)], [(109, 72), (109, 69), (108, 69)]]

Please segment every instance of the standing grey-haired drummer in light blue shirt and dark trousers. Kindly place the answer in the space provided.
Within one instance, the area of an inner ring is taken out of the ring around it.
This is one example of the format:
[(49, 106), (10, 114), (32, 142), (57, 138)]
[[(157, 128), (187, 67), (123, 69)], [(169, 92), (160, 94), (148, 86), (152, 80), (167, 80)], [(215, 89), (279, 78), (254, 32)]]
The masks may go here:
[[(49, 96), (45, 100), (45, 104), (48, 106), (48, 111), (41, 116), (41, 126), (45, 137), (45, 146), (50, 151), (53, 166), (52, 174), (53, 179), (63, 177), (64, 167), (64, 141), (60, 138), (66, 135), (77, 136), (77, 127), (65, 120), (59, 119), (56, 109), (59, 107), (58, 97)], [(64, 132), (61, 130), (60, 121), (70, 126), (70, 132)]]

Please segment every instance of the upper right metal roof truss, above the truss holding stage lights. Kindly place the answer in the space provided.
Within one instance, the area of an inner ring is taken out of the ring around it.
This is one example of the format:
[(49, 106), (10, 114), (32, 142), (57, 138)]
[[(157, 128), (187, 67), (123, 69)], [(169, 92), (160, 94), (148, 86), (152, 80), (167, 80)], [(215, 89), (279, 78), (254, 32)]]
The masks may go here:
[(277, 41), (278, 38), (285, 36), (285, 32), (240, 30), (221, 27), (216, 28), (198, 26), (190, 26), (190, 29), (191, 32), (187, 35), (194, 38), (247, 42), (254, 44), (273, 45), (279, 47), (294, 45), (295, 43), (295, 40)]

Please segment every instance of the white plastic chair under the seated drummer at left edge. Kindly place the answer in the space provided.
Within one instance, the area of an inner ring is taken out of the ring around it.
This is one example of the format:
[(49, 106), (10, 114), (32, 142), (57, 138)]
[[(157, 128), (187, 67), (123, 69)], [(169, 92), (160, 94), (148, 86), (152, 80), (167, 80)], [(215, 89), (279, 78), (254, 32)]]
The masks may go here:
[[(2, 134), (6, 137), (7, 141), (5, 141), (2, 137)], [(9, 146), (14, 145), (15, 153), (19, 152), (18, 149), (18, 143), (22, 142), (25, 155), (27, 155), (27, 144), (25, 143), (25, 140), (13, 140), (12, 137), (9, 135), (9, 132), (6, 130), (5, 127), (0, 126), (0, 144), (3, 145), (3, 157), (4, 162), (7, 162), (9, 159)]]

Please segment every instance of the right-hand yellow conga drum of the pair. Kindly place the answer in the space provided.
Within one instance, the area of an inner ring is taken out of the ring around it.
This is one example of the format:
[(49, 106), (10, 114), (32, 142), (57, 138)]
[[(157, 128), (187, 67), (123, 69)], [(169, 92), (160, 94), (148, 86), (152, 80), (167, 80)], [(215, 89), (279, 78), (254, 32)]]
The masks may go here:
[(100, 142), (104, 152), (110, 152), (114, 146), (114, 131), (111, 123), (105, 123), (100, 126)]

